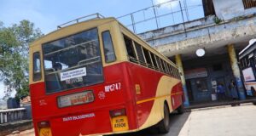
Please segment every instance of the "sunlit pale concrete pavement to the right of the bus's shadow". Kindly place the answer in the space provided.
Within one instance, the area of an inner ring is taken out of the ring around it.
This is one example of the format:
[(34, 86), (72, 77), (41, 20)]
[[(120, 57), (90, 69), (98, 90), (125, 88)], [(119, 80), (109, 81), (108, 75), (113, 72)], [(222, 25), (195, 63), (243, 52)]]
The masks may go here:
[(192, 111), (179, 136), (255, 136), (256, 106)]

